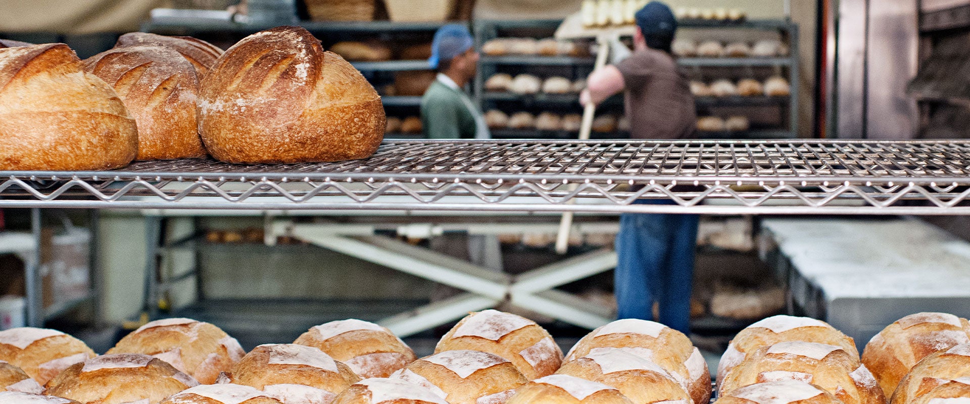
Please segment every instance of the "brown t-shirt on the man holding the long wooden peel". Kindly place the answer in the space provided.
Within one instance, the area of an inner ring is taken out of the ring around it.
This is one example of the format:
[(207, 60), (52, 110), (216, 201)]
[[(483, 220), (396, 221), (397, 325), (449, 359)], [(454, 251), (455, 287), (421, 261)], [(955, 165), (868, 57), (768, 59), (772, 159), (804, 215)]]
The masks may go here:
[(617, 69), (627, 84), (630, 138), (686, 139), (694, 134), (694, 96), (673, 57), (657, 49), (636, 50)]

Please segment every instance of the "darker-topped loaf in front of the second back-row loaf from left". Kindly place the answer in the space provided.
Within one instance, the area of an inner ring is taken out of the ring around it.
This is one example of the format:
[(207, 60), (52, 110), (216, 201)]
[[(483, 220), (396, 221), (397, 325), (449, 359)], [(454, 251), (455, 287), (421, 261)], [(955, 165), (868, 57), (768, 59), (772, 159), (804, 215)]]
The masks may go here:
[(81, 404), (155, 404), (195, 386), (191, 376), (157, 357), (114, 354), (71, 365), (50, 380), (47, 392)]

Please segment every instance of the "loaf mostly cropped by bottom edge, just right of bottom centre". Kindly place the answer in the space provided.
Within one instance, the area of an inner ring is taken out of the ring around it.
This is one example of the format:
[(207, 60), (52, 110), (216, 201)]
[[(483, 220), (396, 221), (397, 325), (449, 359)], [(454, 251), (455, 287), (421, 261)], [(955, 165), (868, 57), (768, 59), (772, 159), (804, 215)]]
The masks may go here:
[(632, 404), (616, 388), (568, 375), (549, 375), (517, 388), (505, 404)]

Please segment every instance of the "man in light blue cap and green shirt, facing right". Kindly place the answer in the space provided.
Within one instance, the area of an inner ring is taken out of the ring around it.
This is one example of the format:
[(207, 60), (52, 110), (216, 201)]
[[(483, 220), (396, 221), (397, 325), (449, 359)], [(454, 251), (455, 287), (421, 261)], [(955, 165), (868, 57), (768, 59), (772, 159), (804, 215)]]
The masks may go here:
[(465, 25), (448, 24), (435, 33), (429, 62), (437, 78), (421, 98), (421, 123), (428, 139), (491, 138), (481, 110), (464, 90), (478, 67), (473, 45)]

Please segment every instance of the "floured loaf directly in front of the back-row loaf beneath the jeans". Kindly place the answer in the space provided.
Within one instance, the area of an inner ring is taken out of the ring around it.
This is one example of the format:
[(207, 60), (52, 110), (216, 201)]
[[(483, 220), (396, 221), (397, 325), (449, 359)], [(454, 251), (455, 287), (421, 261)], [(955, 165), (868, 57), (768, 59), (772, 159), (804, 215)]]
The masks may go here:
[(620, 348), (595, 348), (566, 362), (556, 373), (618, 388), (635, 404), (694, 402), (687, 387), (659, 364)]

